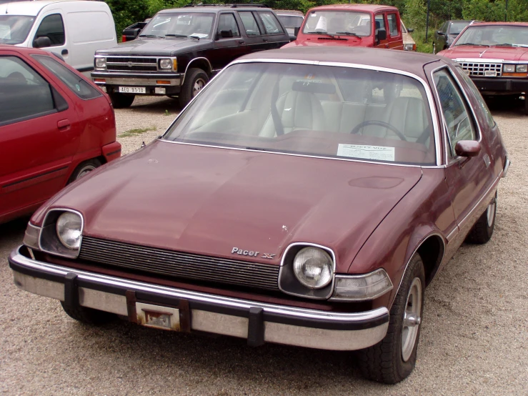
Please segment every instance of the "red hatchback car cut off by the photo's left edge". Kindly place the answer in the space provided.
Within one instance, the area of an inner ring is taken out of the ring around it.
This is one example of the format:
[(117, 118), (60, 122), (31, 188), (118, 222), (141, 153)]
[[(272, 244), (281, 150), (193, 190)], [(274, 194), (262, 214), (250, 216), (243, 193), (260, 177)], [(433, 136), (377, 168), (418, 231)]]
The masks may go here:
[(0, 223), (120, 156), (106, 94), (47, 51), (0, 46)]

